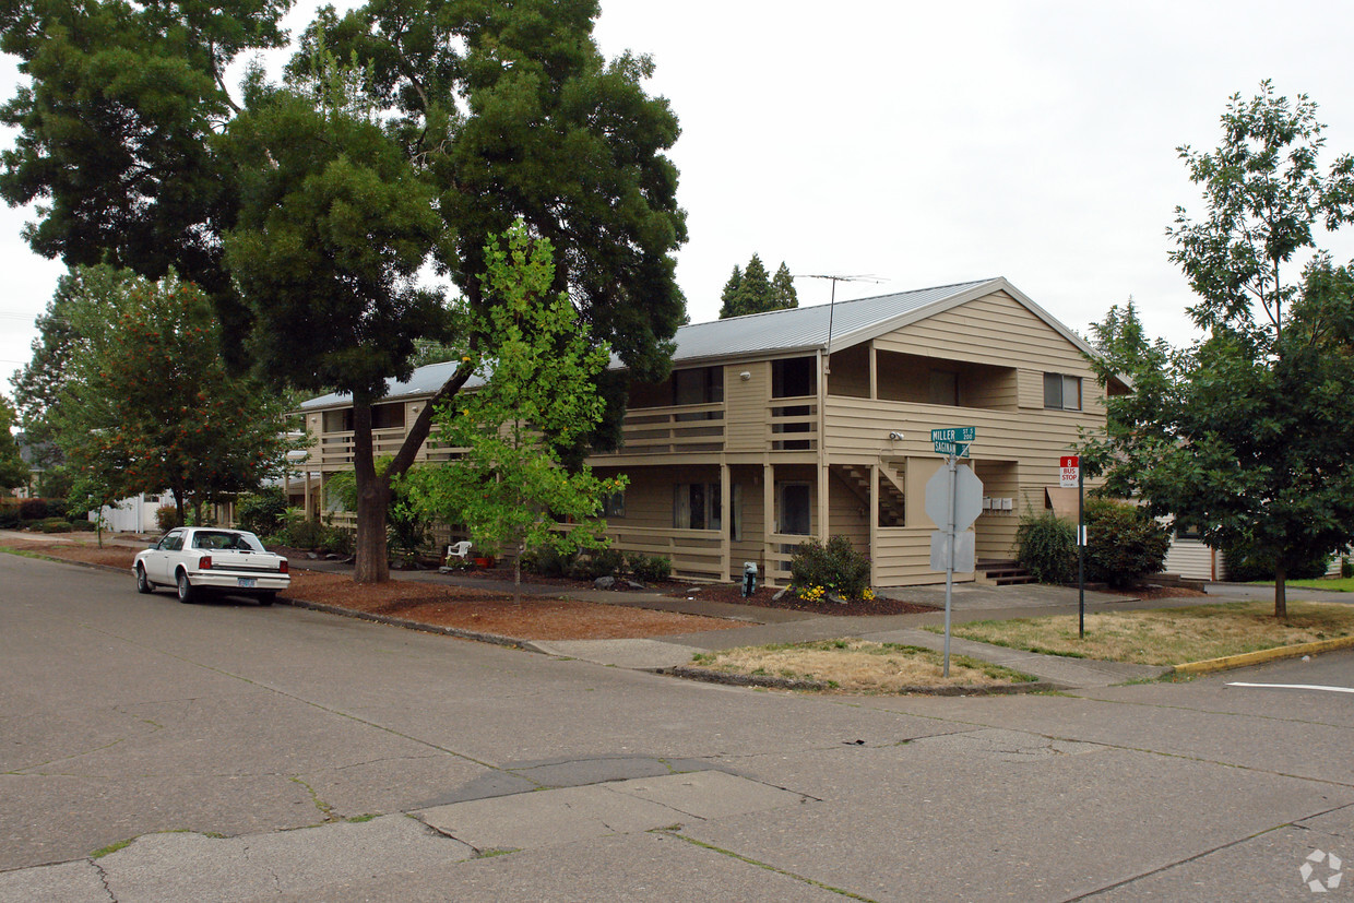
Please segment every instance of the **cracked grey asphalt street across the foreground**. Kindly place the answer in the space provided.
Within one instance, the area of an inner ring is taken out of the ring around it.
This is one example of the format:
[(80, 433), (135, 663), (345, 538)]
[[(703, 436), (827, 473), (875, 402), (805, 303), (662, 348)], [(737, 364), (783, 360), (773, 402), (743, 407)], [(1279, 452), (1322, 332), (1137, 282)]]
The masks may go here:
[(0, 902), (1338, 900), (1351, 688), (799, 696), (0, 555)]

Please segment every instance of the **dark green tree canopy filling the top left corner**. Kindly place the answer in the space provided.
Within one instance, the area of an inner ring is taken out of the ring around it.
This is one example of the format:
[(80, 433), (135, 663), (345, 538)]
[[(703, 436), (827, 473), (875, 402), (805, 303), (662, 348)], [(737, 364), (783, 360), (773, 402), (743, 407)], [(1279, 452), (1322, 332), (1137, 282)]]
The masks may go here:
[(225, 68), (282, 46), (290, 0), (5, 0), (0, 50), (30, 81), (0, 107), (18, 129), (0, 196), (38, 203), (26, 237), (68, 265), (108, 263), (158, 279), (171, 267), (229, 294), (221, 229), (229, 173), (211, 135), (234, 112)]

